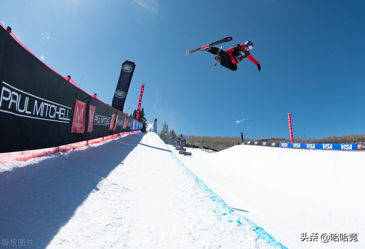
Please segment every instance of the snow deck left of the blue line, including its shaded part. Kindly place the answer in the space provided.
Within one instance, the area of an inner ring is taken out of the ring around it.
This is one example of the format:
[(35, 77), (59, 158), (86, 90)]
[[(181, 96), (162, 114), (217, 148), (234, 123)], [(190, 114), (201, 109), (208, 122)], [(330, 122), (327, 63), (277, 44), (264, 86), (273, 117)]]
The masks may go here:
[(285, 248), (154, 133), (0, 164), (0, 188), (4, 248)]

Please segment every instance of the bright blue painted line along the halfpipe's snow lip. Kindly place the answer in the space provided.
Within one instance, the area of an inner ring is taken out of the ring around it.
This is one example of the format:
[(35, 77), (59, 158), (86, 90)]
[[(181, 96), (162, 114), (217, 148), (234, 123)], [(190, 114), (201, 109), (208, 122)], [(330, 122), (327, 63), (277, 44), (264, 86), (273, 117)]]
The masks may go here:
[[(166, 146), (166, 148), (168, 148)], [(169, 149), (169, 148), (168, 148)], [(178, 165), (180, 165), (186, 172), (187, 175), (193, 177), (195, 179), (196, 184), (203, 190), (209, 193), (210, 199), (214, 202), (216, 202), (219, 206), (216, 207), (216, 210), (213, 212), (216, 212), (219, 216), (219, 219), (222, 219), (222, 217), (227, 217), (227, 222), (231, 223), (237, 223), (237, 226), (242, 226), (241, 218), (251, 227), (253, 227), (253, 231), (257, 234), (259, 238), (262, 240), (265, 240), (270, 244), (271, 246), (275, 246), (276, 248), (281, 249), (288, 249), (283, 244), (277, 242), (270, 234), (266, 233), (262, 227), (257, 226), (254, 222), (250, 221), (246, 217), (239, 215), (234, 212), (233, 208), (228, 207), (227, 204), (224, 202), (220, 196), (218, 196), (215, 192), (213, 192), (207, 185), (203, 183), (196, 175), (194, 175), (193, 172), (190, 171), (190, 169), (187, 168), (177, 157), (174, 153), (171, 152), (174, 158), (178, 161)], [(203, 200), (201, 200), (203, 202)], [(229, 214), (229, 215), (228, 215)], [(235, 217), (234, 217), (235, 216)], [(224, 232), (224, 231), (223, 231)], [(221, 233), (223, 233), (221, 232)], [(216, 235), (216, 234), (214, 234)]]

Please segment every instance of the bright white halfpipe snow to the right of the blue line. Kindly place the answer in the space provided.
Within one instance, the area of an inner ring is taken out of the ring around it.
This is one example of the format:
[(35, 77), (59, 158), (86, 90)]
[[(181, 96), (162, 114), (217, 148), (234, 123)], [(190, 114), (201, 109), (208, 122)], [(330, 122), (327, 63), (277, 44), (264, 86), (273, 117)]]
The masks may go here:
[[(213, 154), (188, 148), (189, 157), (169, 148), (235, 212), (288, 248), (365, 248), (364, 152), (238, 145)], [(349, 241), (322, 242), (322, 234)]]

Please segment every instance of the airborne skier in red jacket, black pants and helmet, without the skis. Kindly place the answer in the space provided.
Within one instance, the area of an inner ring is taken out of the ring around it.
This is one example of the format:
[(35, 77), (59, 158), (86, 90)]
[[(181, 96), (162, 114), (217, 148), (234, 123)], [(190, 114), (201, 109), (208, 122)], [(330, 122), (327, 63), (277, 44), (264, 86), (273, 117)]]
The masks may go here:
[(258, 63), (258, 61), (255, 60), (255, 58), (253, 58), (249, 52), (252, 49), (252, 47), (253, 47), (252, 42), (247, 41), (242, 44), (236, 44), (234, 47), (231, 47), (226, 51), (220, 50), (219, 54), (218, 54), (219, 50), (218, 47), (208, 47), (207, 49), (204, 50), (208, 51), (211, 54), (215, 55), (218, 54), (218, 58), (216, 58), (216, 60), (220, 62), (220, 65), (232, 71), (237, 70), (238, 63), (241, 62), (246, 57), (250, 61), (252, 61), (257, 66), (257, 69), (260, 71), (261, 70), (260, 63)]

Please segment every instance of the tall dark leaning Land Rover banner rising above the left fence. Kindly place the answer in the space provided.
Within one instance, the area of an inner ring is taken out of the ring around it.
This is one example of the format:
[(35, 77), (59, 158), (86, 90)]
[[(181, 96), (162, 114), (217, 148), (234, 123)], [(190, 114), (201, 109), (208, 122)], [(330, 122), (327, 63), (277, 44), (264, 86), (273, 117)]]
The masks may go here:
[(118, 85), (116, 86), (112, 101), (112, 107), (119, 111), (123, 111), (124, 102), (126, 101), (135, 65), (136, 64), (131, 61), (124, 61), (122, 64), (122, 70), (120, 70)]

